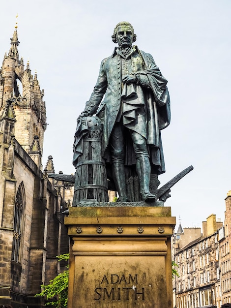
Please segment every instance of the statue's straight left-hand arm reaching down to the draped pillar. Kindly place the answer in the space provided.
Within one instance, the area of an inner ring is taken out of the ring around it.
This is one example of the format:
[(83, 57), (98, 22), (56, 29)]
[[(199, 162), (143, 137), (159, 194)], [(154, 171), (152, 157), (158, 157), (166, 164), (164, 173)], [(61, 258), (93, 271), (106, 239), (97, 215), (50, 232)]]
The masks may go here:
[(99, 76), (94, 86), (93, 92), (90, 95), (89, 100), (86, 103), (84, 113), (87, 115), (93, 115), (97, 112), (99, 104), (107, 90), (108, 82), (105, 71), (105, 60), (101, 62)]

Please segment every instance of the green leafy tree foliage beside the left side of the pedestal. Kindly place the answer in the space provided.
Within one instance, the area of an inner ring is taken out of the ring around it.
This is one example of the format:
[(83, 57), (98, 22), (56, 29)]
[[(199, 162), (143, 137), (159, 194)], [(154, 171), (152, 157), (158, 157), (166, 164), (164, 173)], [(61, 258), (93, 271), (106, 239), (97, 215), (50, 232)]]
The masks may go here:
[[(69, 260), (69, 253), (60, 254), (57, 256), (58, 261)], [(68, 265), (66, 266), (68, 268)], [(50, 280), (48, 285), (41, 285), (41, 293), (35, 296), (44, 296), (51, 302), (46, 305), (52, 305), (57, 308), (67, 307), (67, 291), (68, 291), (68, 277), (69, 270), (65, 270), (63, 273), (58, 274), (54, 279)]]

